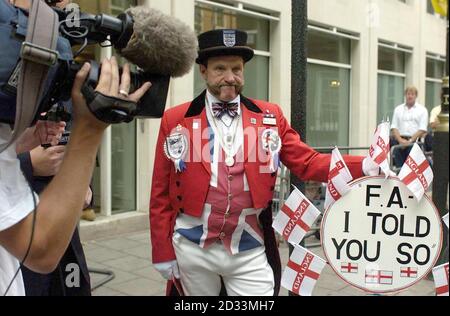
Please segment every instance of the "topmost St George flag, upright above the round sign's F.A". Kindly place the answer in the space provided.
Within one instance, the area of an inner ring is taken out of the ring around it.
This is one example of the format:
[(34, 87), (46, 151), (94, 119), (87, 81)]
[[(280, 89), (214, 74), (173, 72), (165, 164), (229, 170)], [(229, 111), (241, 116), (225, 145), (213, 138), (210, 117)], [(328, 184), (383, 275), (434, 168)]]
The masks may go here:
[(389, 133), (391, 124), (383, 122), (378, 125), (375, 135), (373, 135), (372, 145), (369, 149), (369, 158), (371, 162), (380, 166), (383, 173), (388, 177), (391, 174), (389, 168)]

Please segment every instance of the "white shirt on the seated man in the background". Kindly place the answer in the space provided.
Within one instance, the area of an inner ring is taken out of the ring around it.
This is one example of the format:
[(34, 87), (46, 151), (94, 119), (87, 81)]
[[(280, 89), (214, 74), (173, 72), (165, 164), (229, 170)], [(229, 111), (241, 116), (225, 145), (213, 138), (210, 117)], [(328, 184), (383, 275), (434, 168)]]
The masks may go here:
[(428, 111), (415, 103), (411, 108), (406, 104), (397, 106), (392, 117), (391, 128), (398, 129), (401, 136), (413, 136), (419, 130), (426, 132), (428, 128)]

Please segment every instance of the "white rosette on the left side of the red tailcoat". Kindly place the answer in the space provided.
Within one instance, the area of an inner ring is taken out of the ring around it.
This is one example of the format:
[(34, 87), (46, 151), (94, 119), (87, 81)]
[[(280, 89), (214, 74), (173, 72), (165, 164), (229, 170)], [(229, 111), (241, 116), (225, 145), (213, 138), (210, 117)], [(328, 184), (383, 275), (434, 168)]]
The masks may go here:
[(173, 161), (176, 172), (186, 170), (186, 155), (189, 143), (186, 135), (181, 132), (182, 127), (177, 126), (176, 132), (166, 137), (164, 142), (164, 153), (167, 158)]

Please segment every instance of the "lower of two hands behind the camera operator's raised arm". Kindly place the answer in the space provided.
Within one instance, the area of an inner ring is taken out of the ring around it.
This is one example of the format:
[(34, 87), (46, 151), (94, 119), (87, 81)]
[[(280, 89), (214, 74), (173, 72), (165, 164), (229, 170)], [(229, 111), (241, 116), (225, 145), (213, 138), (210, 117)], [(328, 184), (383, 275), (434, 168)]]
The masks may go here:
[(54, 176), (61, 166), (64, 158), (65, 146), (53, 146), (47, 149), (38, 146), (30, 151), (33, 176)]

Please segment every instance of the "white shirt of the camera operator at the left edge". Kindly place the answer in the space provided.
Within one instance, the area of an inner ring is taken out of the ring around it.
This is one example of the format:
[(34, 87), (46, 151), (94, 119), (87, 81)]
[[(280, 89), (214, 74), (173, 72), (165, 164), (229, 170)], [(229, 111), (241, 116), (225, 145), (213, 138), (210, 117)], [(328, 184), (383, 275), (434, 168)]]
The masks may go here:
[[(11, 136), (9, 125), (0, 123), (0, 144), (5, 144)], [(6, 230), (30, 214), (34, 209), (31, 189), (20, 170), (14, 144), (0, 153), (0, 231)], [(36, 203), (38, 197), (35, 194)], [(19, 261), (0, 245), (0, 296), (3, 296)], [(14, 279), (8, 296), (25, 295), (22, 274)]]

